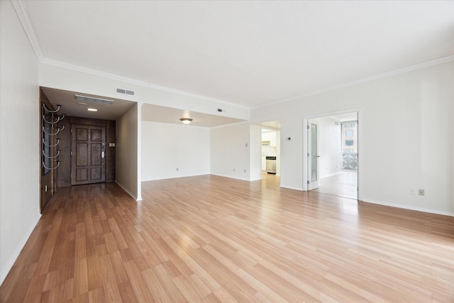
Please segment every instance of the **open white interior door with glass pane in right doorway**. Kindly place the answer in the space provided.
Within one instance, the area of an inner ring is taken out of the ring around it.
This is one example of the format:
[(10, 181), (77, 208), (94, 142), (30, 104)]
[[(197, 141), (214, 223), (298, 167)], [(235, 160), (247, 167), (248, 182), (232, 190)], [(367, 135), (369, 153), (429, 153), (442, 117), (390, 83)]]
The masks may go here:
[(307, 189), (312, 190), (319, 187), (319, 127), (317, 119), (311, 119), (307, 123)]

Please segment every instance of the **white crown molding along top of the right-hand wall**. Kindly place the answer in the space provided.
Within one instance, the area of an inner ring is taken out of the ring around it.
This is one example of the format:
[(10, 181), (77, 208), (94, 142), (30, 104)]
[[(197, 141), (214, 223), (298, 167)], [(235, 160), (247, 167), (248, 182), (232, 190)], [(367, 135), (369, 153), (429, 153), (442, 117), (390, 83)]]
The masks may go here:
[(404, 74), (406, 72), (411, 72), (411, 71), (414, 71), (414, 70), (421, 70), (422, 68), (425, 68), (425, 67), (431, 67), (433, 65), (439, 65), (439, 64), (442, 64), (442, 63), (445, 63), (445, 62), (450, 62), (450, 61), (453, 61), (453, 60), (454, 60), (454, 55), (450, 55), (448, 57), (442, 57), (442, 58), (439, 58), (439, 59), (436, 59), (436, 60), (431, 60), (431, 61), (428, 61), (428, 62), (423, 62), (423, 63), (419, 63), (419, 64), (416, 64), (416, 65), (411, 65), (411, 66), (399, 68), (398, 70), (393, 70), (391, 72), (384, 72), (382, 74), (378, 74), (378, 75), (371, 76), (371, 77), (366, 77), (366, 78), (363, 78), (363, 79), (355, 80), (355, 81), (352, 81), (352, 82), (347, 82), (347, 83), (344, 83), (344, 84), (335, 85), (333, 87), (328, 87), (326, 89), (320, 89), (318, 91), (309, 92), (307, 94), (301, 94), (301, 95), (298, 95), (298, 96), (295, 96), (295, 97), (289, 97), (289, 98), (286, 98), (286, 99), (272, 101), (272, 102), (269, 102), (267, 104), (262, 104), (260, 106), (256, 106), (256, 107), (251, 108), (251, 109), (260, 109), (260, 108), (263, 108), (263, 107), (268, 107), (268, 106), (272, 106), (272, 105), (276, 105), (276, 104), (282, 104), (282, 103), (289, 102), (289, 101), (294, 101), (294, 100), (298, 100), (298, 99), (304, 99), (304, 98), (307, 98), (307, 97), (316, 96), (318, 94), (331, 92), (331, 91), (337, 90), (337, 89), (344, 89), (344, 88), (347, 88), (347, 87), (352, 87), (353, 85), (362, 84), (362, 83), (374, 81), (374, 80), (377, 80), (377, 79), (383, 79), (383, 78), (386, 78), (386, 77), (392, 77), (394, 75), (400, 75), (400, 74)]

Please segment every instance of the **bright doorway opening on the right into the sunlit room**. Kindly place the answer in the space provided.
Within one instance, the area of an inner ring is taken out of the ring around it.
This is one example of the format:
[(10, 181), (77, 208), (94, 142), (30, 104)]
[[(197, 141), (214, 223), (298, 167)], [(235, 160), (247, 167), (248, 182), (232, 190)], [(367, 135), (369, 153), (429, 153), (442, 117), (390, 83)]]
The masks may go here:
[(306, 188), (359, 199), (358, 111), (306, 120)]

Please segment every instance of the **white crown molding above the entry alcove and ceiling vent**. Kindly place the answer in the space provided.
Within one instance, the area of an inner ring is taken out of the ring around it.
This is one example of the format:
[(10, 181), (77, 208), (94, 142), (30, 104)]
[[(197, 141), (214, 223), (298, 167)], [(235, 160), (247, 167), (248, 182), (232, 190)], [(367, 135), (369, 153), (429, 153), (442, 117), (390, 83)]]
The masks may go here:
[(144, 82), (144, 81), (140, 81), (140, 80), (136, 80), (136, 79), (131, 79), (131, 78), (128, 78), (128, 77), (123, 77), (123, 76), (111, 74), (109, 72), (101, 72), (99, 70), (93, 70), (91, 68), (81, 67), (79, 65), (72, 65), (72, 64), (66, 63), (66, 62), (60, 62), (60, 61), (50, 60), (50, 59), (44, 58), (43, 60), (41, 60), (41, 63), (43, 63), (45, 65), (51, 65), (51, 66), (54, 66), (54, 67), (65, 68), (67, 70), (74, 70), (75, 72), (83, 72), (83, 73), (89, 74), (89, 75), (94, 75), (94, 76), (98, 76), (98, 77), (104, 77), (104, 78), (108, 78), (108, 79), (112, 79), (112, 80), (116, 80), (116, 81), (126, 82), (126, 83), (129, 83), (129, 84), (135, 84), (135, 85), (138, 85), (138, 86), (141, 86), (141, 87), (148, 87), (150, 89), (157, 89), (157, 90), (160, 90), (162, 92), (170, 92), (172, 94), (179, 94), (179, 95), (185, 96), (185, 97), (202, 99), (202, 100), (210, 101), (210, 102), (216, 102), (218, 104), (225, 104), (225, 105), (228, 105), (228, 106), (234, 106), (236, 108), (250, 109), (250, 107), (248, 107), (248, 106), (235, 104), (233, 102), (223, 101), (223, 100), (220, 100), (220, 99), (206, 97), (206, 96), (202, 96), (202, 95), (199, 95), (199, 94), (192, 94), (192, 93), (189, 93), (189, 92), (183, 92), (183, 91), (180, 91), (180, 90), (177, 90), (177, 89), (171, 89), (169, 87), (162, 87), (160, 85), (151, 84), (151, 83), (148, 83), (148, 82)]

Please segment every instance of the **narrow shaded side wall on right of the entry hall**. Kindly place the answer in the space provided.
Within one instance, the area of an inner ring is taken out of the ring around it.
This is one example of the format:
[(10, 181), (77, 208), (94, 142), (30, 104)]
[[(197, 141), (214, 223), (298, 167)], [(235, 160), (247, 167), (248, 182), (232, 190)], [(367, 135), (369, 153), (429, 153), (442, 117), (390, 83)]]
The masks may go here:
[(134, 104), (116, 121), (116, 182), (132, 197), (140, 200), (138, 109), (138, 104)]

